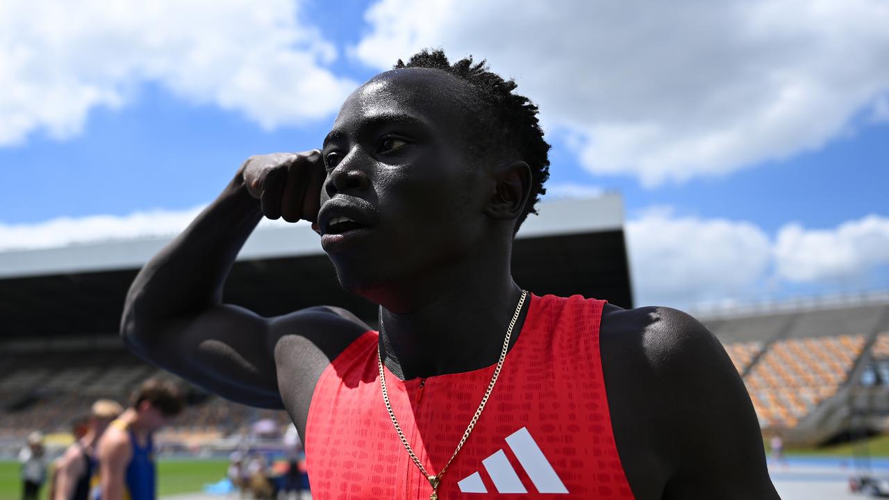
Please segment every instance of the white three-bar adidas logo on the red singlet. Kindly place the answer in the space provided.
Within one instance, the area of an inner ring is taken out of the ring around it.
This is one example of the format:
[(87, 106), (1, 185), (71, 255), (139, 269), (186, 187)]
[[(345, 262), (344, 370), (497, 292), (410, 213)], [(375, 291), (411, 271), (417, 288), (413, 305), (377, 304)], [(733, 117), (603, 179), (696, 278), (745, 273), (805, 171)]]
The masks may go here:
[[(522, 427), (509, 434), (506, 443), (539, 493), (568, 493), (565, 484), (558, 479), (558, 474), (549, 464), (547, 457), (543, 455), (541, 447), (534, 442), (527, 427)], [(494, 483), (494, 488), (497, 488), (497, 493), (528, 492), (522, 484), (522, 480), (518, 478), (516, 470), (509, 464), (509, 459), (502, 448), (482, 460), (482, 465), (485, 466), (485, 471), (488, 472), (488, 476)], [(485, 483), (482, 482), (482, 476), (478, 472), (473, 472), (463, 480), (457, 481), (457, 486), (460, 487), (462, 493), (488, 492)]]

